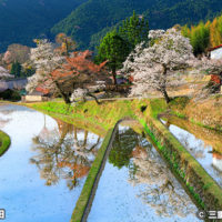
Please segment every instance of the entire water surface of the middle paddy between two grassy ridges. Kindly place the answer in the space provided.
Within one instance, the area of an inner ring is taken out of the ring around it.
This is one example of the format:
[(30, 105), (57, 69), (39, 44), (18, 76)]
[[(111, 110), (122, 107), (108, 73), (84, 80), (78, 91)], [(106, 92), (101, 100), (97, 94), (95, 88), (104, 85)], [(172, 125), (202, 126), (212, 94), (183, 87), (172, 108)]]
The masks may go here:
[(152, 144), (120, 125), (88, 221), (199, 221), (195, 212)]

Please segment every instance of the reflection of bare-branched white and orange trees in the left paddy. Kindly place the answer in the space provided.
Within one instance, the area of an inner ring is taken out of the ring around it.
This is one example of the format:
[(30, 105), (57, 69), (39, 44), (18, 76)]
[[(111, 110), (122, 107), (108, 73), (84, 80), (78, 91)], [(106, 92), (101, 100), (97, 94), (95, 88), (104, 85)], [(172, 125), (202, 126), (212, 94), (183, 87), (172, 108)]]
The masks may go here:
[[(44, 125), (39, 135), (32, 139), (32, 150), (38, 154), (31, 158), (30, 162), (38, 167), (47, 185), (65, 179), (68, 188), (72, 190), (80, 179), (88, 174), (100, 138), (92, 141), (88, 131), (59, 120), (57, 122), (59, 129), (48, 130)], [(83, 133), (83, 140), (78, 140), (78, 135)]]

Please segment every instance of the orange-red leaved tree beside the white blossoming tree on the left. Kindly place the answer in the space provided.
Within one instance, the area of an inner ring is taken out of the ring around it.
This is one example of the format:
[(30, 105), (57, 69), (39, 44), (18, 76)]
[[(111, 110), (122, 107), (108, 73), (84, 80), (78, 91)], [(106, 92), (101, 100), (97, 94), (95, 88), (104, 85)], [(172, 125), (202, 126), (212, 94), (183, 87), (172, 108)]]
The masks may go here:
[[(98, 65), (92, 62), (91, 58), (92, 52), (89, 50), (72, 52), (70, 57), (65, 58), (65, 63), (52, 72), (53, 77), (68, 75), (68, 84), (71, 84), (72, 90), (72, 102), (77, 98), (83, 98), (85, 101), (85, 97), (88, 95), (92, 97), (99, 103), (93, 91), (104, 89), (104, 83), (111, 82), (107, 74), (107, 69), (104, 69), (107, 61)], [(71, 79), (69, 78), (70, 75), (72, 77)], [(65, 89), (68, 88), (65, 87)]]

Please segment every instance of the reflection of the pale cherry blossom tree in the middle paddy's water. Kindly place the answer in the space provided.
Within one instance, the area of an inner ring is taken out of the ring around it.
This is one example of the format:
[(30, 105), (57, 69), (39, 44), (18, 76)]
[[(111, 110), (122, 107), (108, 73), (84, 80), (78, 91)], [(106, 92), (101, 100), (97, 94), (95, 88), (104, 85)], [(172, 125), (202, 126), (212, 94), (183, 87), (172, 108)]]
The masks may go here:
[(130, 182), (133, 185), (145, 184), (138, 196), (155, 209), (157, 214), (186, 216), (195, 213), (189, 196), (154, 149), (144, 152), (144, 148), (138, 148), (133, 163), (137, 172)]

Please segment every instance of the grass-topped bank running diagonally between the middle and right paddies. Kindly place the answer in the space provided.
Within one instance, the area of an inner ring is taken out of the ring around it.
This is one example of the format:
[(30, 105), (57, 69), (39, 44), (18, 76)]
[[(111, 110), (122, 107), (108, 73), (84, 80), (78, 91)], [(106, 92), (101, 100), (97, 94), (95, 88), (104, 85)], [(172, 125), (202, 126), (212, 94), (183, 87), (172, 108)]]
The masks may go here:
[[(176, 105), (175, 101), (168, 108), (172, 108), (172, 105)], [(181, 104), (178, 105), (180, 107)], [(145, 110), (145, 119), (141, 123), (198, 205), (206, 210), (212, 206), (219, 210), (222, 206), (222, 189), (158, 120), (158, 114), (163, 110), (165, 110), (165, 107), (160, 100), (152, 101), (149, 109)]]

